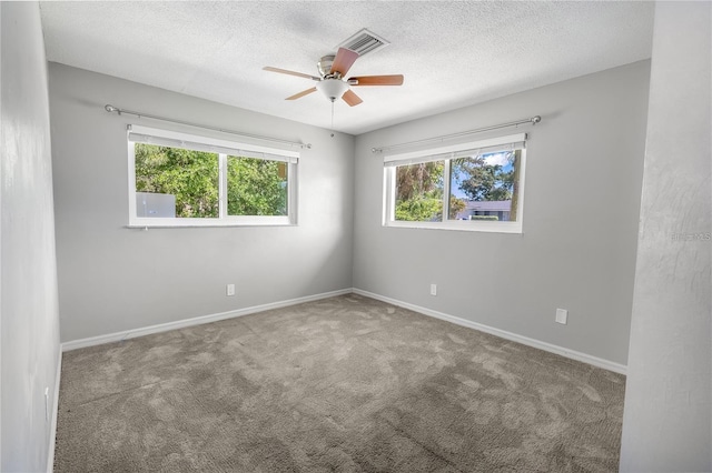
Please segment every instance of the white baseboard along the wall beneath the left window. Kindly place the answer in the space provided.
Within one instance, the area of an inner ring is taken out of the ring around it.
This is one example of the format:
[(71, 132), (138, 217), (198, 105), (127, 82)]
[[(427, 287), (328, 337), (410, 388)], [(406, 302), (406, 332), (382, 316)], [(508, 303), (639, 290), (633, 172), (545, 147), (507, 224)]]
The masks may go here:
[(83, 349), (86, 346), (101, 345), (103, 343), (119, 342), (121, 340), (135, 339), (137, 336), (150, 335), (151, 333), (168, 332), (169, 330), (184, 329), (186, 326), (200, 325), (204, 323), (217, 322), (219, 320), (233, 319), (241, 315), (249, 315), (256, 312), (280, 309), (289, 305), (301, 304), (304, 302), (318, 301), (320, 299), (333, 298), (335, 295), (350, 294), (353, 290), (342, 289), (338, 291), (324, 292), (320, 294), (306, 295), (304, 298), (289, 299), (286, 301), (270, 302), (268, 304), (254, 305), (251, 308), (238, 309), (217, 314), (201, 315), (192, 319), (178, 320), (176, 322), (161, 323), (158, 325), (144, 326), (140, 329), (126, 330), (122, 332), (108, 333), (106, 335), (91, 336), (88, 339), (72, 340), (62, 343), (62, 351)]

